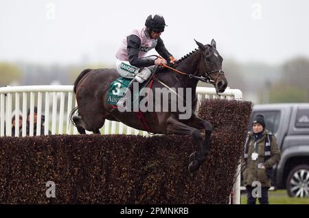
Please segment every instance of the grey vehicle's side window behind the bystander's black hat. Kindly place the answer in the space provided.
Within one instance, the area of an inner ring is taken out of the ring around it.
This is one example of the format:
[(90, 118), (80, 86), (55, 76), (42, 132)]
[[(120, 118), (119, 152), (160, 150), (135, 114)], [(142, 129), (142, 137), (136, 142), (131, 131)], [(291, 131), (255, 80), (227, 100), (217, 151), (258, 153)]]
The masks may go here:
[(264, 116), (266, 129), (268, 131), (273, 132), (273, 134), (275, 134), (278, 131), (280, 115), (281, 115), (281, 112), (279, 110), (253, 112), (252, 117), (251, 117), (251, 122), (250, 122), (250, 131), (252, 131), (253, 118), (257, 114), (262, 114)]

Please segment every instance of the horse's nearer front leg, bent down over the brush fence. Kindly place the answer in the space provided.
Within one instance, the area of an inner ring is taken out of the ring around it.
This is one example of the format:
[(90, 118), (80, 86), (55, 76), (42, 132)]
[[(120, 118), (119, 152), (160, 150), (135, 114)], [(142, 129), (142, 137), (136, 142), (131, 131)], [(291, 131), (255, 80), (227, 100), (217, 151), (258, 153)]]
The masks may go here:
[(204, 145), (201, 132), (198, 129), (191, 127), (190, 125), (181, 123), (174, 117), (174, 115), (168, 117), (166, 124), (167, 134), (190, 135), (194, 139), (196, 145), (198, 145), (197, 152), (194, 152), (190, 155), (190, 164), (188, 166), (189, 172), (191, 174), (195, 173), (206, 159), (206, 156), (203, 152)]

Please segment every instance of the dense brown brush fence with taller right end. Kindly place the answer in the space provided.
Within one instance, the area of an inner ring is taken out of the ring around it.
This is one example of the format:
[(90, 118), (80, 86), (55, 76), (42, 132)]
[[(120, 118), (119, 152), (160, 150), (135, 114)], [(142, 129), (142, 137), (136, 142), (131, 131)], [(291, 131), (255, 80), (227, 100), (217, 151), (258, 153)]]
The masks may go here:
[[(0, 138), (0, 204), (227, 204), (252, 104), (205, 100), (209, 156), (192, 178), (190, 136)], [(47, 181), (56, 198), (47, 198)]]

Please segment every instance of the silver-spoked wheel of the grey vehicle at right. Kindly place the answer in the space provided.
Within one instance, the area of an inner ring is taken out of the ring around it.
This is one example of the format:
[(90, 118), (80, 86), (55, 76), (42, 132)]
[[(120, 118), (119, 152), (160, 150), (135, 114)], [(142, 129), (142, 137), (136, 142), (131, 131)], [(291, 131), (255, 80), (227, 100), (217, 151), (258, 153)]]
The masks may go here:
[(309, 166), (299, 165), (288, 174), (286, 189), (290, 197), (309, 197)]

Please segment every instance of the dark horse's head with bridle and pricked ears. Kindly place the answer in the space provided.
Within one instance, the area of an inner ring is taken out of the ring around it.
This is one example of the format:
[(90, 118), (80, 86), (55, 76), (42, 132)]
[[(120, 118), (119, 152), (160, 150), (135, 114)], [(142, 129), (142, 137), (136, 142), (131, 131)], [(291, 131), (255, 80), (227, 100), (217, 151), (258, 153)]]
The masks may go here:
[(222, 71), (223, 58), (216, 49), (216, 41), (211, 40), (211, 45), (203, 45), (198, 41), (196, 41), (196, 44), (201, 51), (198, 73), (203, 77), (207, 77), (211, 84), (214, 84), (217, 93), (223, 93), (227, 88), (227, 79)]

